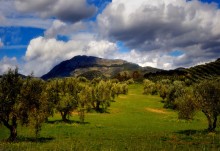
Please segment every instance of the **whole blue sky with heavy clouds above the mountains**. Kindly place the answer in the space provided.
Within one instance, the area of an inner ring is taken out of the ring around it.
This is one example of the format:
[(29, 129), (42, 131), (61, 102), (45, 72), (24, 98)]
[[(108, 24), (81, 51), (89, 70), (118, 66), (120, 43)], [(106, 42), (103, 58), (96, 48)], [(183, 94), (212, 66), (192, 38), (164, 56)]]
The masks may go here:
[(0, 0), (0, 74), (76, 55), (160, 69), (220, 58), (219, 0)]

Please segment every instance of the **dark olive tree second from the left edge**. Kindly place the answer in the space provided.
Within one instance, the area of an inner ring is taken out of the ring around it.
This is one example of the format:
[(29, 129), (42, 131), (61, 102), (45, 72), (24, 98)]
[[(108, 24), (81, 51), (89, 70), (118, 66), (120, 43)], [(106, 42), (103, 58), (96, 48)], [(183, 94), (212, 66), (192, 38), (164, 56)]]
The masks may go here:
[(28, 77), (24, 80), (20, 94), (20, 114), (22, 124), (33, 126), (36, 137), (42, 123), (49, 117), (49, 103), (46, 98), (45, 82)]

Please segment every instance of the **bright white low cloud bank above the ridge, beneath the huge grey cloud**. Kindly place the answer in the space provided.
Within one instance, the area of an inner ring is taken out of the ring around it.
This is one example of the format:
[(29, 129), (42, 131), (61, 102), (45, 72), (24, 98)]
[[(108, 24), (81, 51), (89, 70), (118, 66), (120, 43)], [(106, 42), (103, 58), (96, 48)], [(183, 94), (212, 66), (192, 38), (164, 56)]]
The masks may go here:
[(187, 48), (186, 53), (179, 56), (172, 56), (166, 51), (162, 52), (161, 50), (144, 52), (133, 49), (125, 53), (116, 52), (109, 56), (109, 58), (123, 59), (139, 64), (142, 67), (150, 66), (165, 70), (176, 69), (179, 67), (192, 67), (200, 64), (201, 62), (204, 63), (216, 60), (216, 56), (214, 56), (215, 54), (205, 56), (200, 54), (199, 56), (197, 53), (200, 52), (205, 53), (203, 50), (199, 49), (199, 46), (189, 47)]

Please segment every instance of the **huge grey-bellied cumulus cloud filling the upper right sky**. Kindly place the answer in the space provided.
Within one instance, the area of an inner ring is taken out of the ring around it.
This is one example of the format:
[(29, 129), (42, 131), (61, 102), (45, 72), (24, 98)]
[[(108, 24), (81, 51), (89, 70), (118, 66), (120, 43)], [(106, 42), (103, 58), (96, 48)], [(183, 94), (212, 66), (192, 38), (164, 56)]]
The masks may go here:
[[(219, 56), (219, 18), (216, 4), (197, 0), (113, 0), (98, 16), (97, 24), (102, 37), (122, 41), (139, 51), (140, 59), (164, 56), (164, 64), (175, 67)], [(169, 55), (174, 50), (182, 50), (184, 56), (175, 59)]]

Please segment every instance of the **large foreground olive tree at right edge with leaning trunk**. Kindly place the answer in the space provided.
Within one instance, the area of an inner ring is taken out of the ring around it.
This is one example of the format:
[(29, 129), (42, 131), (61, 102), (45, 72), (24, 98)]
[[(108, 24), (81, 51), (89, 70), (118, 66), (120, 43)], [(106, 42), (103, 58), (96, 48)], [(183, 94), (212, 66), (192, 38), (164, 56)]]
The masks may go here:
[[(208, 131), (214, 131), (220, 114), (220, 81), (205, 80), (196, 84), (193, 91), (178, 98), (179, 117), (192, 118), (196, 110), (202, 111), (208, 121)], [(191, 117), (190, 117), (191, 116)]]

